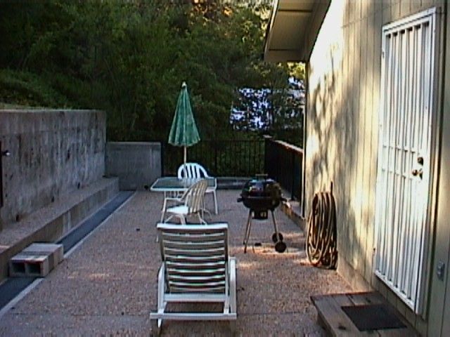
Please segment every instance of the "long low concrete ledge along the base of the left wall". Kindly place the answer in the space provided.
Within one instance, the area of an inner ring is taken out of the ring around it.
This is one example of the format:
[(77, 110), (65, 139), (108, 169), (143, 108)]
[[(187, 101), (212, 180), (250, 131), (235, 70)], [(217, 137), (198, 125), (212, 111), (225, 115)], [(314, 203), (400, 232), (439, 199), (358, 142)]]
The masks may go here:
[(8, 223), (0, 232), (0, 282), (8, 277), (9, 260), (34, 242), (56, 242), (119, 192), (118, 178), (102, 178), (66, 194), (48, 206)]

